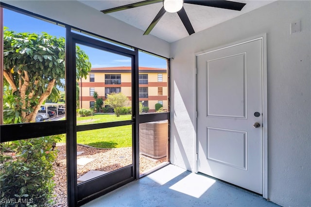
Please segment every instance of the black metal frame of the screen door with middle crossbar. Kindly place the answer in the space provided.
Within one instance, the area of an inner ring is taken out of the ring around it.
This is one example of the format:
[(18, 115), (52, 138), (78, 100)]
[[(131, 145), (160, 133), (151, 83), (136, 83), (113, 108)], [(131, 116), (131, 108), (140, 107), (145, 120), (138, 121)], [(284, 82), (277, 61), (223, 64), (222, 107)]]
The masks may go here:
[[(69, 190), (74, 194), (74, 200), (69, 200), (68, 204), (74, 203), (74, 206), (81, 206), (86, 202), (99, 197), (111, 190), (115, 190), (129, 182), (138, 179), (137, 169), (139, 168), (139, 148), (138, 148), (138, 124), (137, 124), (137, 115), (138, 115), (138, 50), (128, 50), (120, 46), (112, 45), (104, 41), (97, 40), (92, 37), (85, 35), (80, 35), (73, 33), (71, 27), (66, 27), (66, 110), (67, 110), (67, 166), (69, 172), (68, 185), (71, 188)], [(128, 121), (115, 121), (107, 123), (98, 123), (98, 124), (88, 124), (78, 126), (76, 125), (76, 115), (75, 115), (75, 102), (70, 100), (75, 100), (76, 96), (76, 53), (75, 48), (76, 44), (82, 44), (94, 49), (103, 50), (106, 52), (112, 52), (119, 55), (124, 55), (131, 58), (131, 96), (132, 96), (132, 119)], [(132, 125), (132, 164), (122, 167), (116, 171), (109, 172), (107, 174), (93, 178), (87, 182), (77, 184), (77, 132), (100, 129), (100, 128), (109, 128), (114, 126), (123, 126), (123, 125)], [(138, 172), (139, 173), (139, 172)], [(101, 185), (98, 185), (101, 183)], [(69, 188), (68, 188), (69, 189)], [(68, 194), (69, 194), (68, 191)]]

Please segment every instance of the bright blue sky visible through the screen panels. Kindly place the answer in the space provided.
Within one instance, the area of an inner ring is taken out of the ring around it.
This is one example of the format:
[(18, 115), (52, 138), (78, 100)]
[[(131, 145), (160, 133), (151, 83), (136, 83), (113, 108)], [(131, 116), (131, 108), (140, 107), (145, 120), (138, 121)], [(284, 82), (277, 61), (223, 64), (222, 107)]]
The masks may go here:
[[(57, 26), (55, 24), (22, 15), (8, 9), (4, 9), (4, 26), (9, 30), (16, 32), (29, 32), (37, 33), (46, 32), (53, 36), (65, 37), (65, 28)], [(118, 67), (118, 66), (130, 66), (131, 62), (128, 57), (113, 54), (110, 52), (99, 51), (93, 48), (89, 48), (83, 45), (79, 45), (89, 57), (92, 64), (92, 68), (100, 67)], [(140, 67), (151, 68), (166, 68), (167, 63), (165, 59), (156, 57), (154, 55), (139, 52), (138, 55)]]

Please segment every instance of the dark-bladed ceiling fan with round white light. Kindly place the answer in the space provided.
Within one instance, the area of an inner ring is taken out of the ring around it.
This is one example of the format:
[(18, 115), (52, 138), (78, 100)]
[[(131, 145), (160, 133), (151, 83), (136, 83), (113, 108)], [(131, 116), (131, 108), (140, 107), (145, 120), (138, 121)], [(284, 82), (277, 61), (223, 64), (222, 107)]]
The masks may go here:
[(163, 6), (159, 13), (155, 16), (154, 20), (151, 22), (147, 30), (145, 31), (144, 35), (148, 35), (151, 30), (155, 27), (156, 23), (161, 19), (161, 17), (165, 14), (165, 12), (174, 13), (177, 12), (178, 16), (180, 17), (181, 21), (183, 22), (186, 30), (188, 31), (189, 35), (194, 33), (193, 27), (190, 23), (188, 15), (183, 7), (184, 3), (202, 5), (202, 6), (211, 6), (223, 9), (231, 9), (241, 11), (242, 8), (245, 6), (246, 3), (240, 3), (235, 1), (228, 1), (228, 0), (144, 0), (139, 1), (136, 3), (127, 4), (124, 6), (118, 6), (111, 9), (102, 10), (104, 14), (118, 12), (124, 9), (131, 9), (139, 6), (145, 6), (153, 3), (163, 2)]

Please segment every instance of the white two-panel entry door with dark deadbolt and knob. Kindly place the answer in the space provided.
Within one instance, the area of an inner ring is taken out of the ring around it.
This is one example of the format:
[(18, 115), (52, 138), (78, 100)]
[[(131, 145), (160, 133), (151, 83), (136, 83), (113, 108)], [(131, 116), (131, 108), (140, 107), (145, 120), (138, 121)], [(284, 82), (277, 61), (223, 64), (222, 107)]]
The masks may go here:
[(261, 43), (197, 55), (198, 172), (260, 194)]

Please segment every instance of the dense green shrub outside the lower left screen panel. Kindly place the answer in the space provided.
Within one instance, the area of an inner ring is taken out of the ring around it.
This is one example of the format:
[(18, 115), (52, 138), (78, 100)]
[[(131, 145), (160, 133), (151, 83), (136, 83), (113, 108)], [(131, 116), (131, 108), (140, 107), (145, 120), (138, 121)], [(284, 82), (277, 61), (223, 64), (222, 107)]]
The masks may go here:
[[(29, 203), (24, 206), (52, 206), (55, 186), (52, 165), (57, 156), (52, 146), (56, 140), (60, 138), (48, 136), (23, 139), (9, 142), (6, 146), (1, 143), (1, 201), (27, 199)], [(15, 152), (15, 156), (4, 156), (3, 152), (8, 150)], [(3, 206), (12, 205), (15, 204)]]

